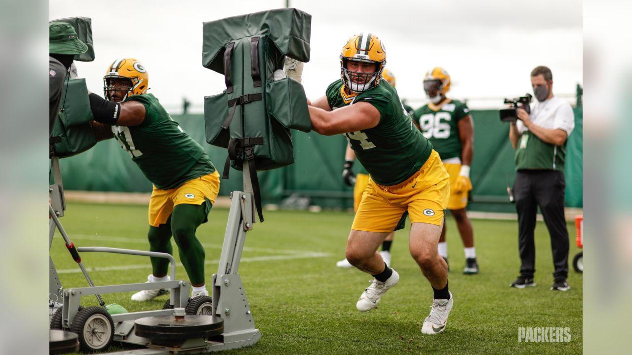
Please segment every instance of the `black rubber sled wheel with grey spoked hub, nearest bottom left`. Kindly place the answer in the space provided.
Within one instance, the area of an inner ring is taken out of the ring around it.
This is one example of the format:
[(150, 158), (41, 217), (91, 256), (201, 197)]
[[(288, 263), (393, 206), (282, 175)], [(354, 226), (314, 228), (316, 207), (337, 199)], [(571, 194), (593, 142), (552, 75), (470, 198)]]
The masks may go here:
[(105, 351), (114, 338), (112, 316), (99, 306), (79, 311), (70, 330), (79, 335), (79, 347), (83, 352)]

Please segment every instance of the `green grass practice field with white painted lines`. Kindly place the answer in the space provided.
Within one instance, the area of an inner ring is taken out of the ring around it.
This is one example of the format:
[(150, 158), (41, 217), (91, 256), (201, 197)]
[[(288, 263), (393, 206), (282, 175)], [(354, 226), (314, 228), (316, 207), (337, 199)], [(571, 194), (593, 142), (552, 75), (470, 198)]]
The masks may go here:
[[(198, 229), (206, 248), (207, 282), (217, 272), (228, 210), (210, 212), (209, 223)], [(368, 313), (355, 308), (370, 275), (340, 269), (353, 215), (346, 212), (267, 211), (246, 237), (240, 265), (257, 328), (262, 338), (253, 347), (225, 354), (579, 354), (582, 351), (582, 277), (569, 272), (568, 292), (550, 291), (553, 282), (547, 229), (536, 229), (538, 286), (514, 289), (518, 276), (517, 222), (473, 220), (480, 274), (463, 275), (463, 246), (454, 220), (447, 221), (450, 290), (454, 308), (446, 332), (421, 334), (430, 311), (432, 289), (408, 252), (408, 229), (396, 232), (392, 267), (398, 286)], [(64, 228), (76, 246), (109, 246), (147, 250), (147, 208), (138, 205), (68, 203)], [(569, 224), (571, 252), (574, 227)], [(174, 245), (174, 252), (177, 250)], [(65, 288), (87, 282), (57, 235), (51, 256)], [(178, 256), (176, 253), (176, 260)], [(97, 286), (144, 282), (149, 259), (140, 256), (83, 253), (83, 265)], [(569, 260), (569, 262), (570, 262)], [(178, 265), (176, 277), (186, 279)], [(147, 303), (130, 301), (131, 292), (106, 294), (106, 303), (129, 311), (161, 309), (168, 296)], [(95, 298), (83, 306), (97, 305)], [(518, 342), (518, 327), (569, 327), (568, 343)], [(121, 350), (113, 346), (110, 351)]]

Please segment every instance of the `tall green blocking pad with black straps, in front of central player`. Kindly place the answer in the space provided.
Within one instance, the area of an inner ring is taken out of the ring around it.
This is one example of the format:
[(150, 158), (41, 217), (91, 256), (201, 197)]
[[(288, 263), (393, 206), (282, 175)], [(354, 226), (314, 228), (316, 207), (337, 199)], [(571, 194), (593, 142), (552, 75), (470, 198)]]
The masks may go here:
[[(311, 16), (297, 9), (204, 23), (203, 65), (224, 74), (226, 84), (223, 93), (205, 97), (206, 140), (238, 152), (231, 157), (235, 169), (244, 159), (253, 159), (257, 170), (292, 164), (289, 129), (311, 130), (303, 87), (273, 79), (285, 56), (309, 60), (310, 27)], [(249, 143), (253, 156), (240, 146)]]

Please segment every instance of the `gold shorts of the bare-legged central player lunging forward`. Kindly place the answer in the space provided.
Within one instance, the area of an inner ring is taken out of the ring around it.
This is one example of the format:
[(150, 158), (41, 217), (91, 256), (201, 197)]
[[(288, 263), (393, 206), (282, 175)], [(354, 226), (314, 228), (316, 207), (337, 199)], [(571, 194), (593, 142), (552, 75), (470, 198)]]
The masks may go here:
[(367, 232), (392, 232), (406, 211), (411, 223), (441, 226), (443, 210), (450, 196), (450, 178), (439, 154), (430, 157), (403, 183), (383, 186), (369, 179), (351, 229)]

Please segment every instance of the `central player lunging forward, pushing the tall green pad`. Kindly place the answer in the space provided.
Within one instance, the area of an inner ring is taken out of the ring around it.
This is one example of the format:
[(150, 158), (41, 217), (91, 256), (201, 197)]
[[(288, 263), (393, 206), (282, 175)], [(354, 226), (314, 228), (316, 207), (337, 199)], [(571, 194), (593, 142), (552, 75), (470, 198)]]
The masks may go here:
[(377, 253), (382, 241), (410, 215), (410, 253), (434, 291), (423, 334), (445, 330), (453, 306), (447, 265), (437, 254), (449, 176), (439, 154), (413, 127), (395, 88), (382, 80), (384, 43), (375, 33), (353, 35), (340, 54), (340, 78), (310, 102), (312, 128), (322, 135), (344, 134), (370, 174), (347, 241), (351, 265), (373, 275), (356, 308), (370, 311), (399, 274)]

